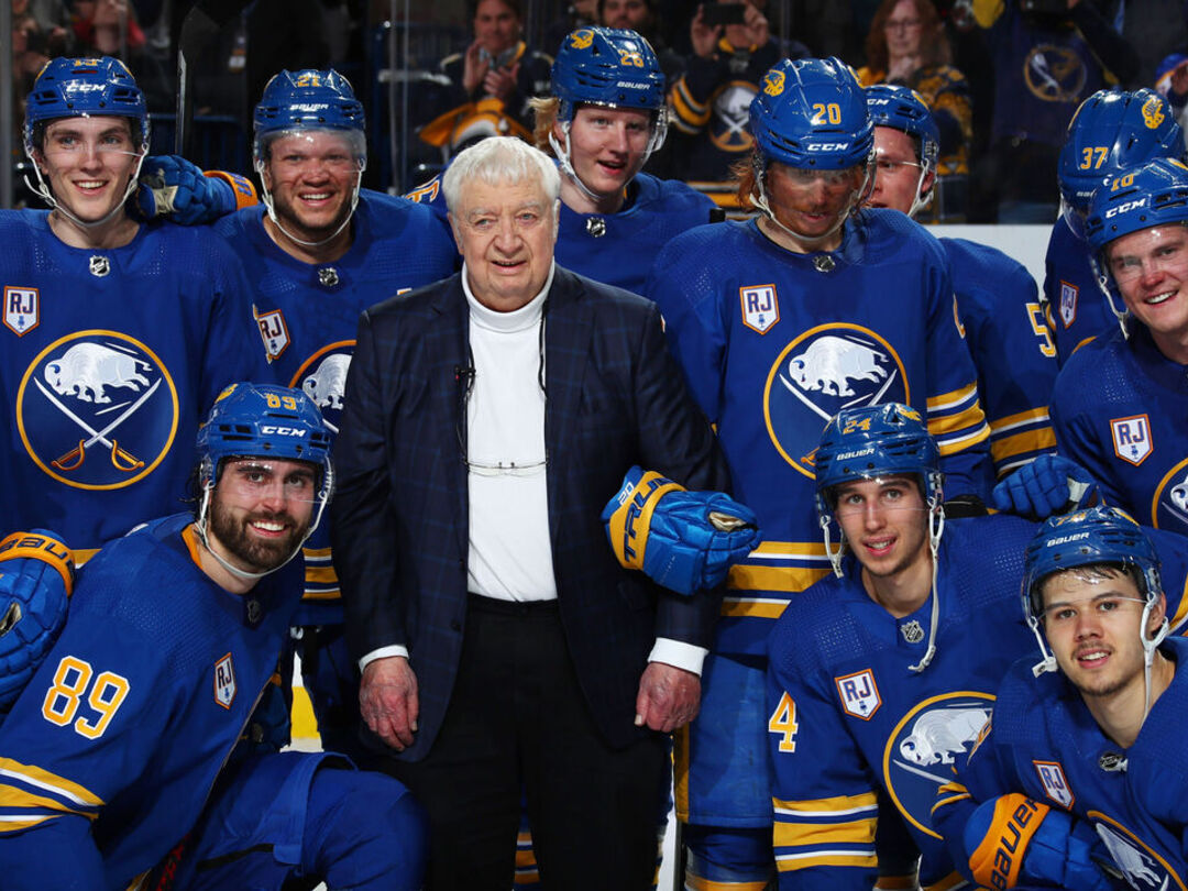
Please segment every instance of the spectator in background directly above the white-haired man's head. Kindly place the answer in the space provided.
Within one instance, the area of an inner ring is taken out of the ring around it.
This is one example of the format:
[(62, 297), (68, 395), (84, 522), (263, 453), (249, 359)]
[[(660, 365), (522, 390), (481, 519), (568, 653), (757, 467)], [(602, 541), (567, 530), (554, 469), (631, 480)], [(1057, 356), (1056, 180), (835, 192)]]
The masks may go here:
[(468, 0), (468, 8), (474, 42), (442, 59), (450, 81), (440, 100), (443, 113), (421, 131), (421, 139), (440, 146), (446, 158), (485, 137), (531, 141), (529, 100), (549, 91), (552, 59), (520, 39), (520, 0)]

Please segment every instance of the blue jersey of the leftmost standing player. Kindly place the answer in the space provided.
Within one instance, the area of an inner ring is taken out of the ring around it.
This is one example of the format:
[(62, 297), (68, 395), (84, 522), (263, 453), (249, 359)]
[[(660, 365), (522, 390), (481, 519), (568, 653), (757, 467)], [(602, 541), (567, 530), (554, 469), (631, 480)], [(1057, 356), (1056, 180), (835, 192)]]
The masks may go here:
[(171, 223), (113, 249), (70, 247), (43, 211), (0, 211), (0, 516), (80, 562), (177, 510), (198, 423), (263, 350), (222, 239)]

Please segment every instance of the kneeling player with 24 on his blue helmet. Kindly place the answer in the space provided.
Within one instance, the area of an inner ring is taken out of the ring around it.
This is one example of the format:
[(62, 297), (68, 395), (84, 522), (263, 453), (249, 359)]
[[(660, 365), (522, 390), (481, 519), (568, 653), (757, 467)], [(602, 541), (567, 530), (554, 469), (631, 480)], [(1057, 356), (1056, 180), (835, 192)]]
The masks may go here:
[[(779, 887), (868, 891), (916, 849), (921, 886), (955, 887), (929, 809), (1030, 646), (1018, 589), (1035, 526), (946, 519), (936, 443), (896, 403), (829, 422), (816, 503), (836, 577), (792, 598), (767, 640)], [(904, 828), (880, 862), (877, 830)]]

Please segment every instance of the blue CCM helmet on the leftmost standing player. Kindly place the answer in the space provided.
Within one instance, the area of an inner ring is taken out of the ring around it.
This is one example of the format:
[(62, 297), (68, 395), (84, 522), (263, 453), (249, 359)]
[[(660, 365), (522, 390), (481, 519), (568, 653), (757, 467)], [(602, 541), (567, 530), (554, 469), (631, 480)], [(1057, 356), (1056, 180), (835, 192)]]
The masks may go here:
[(132, 141), (148, 151), (148, 105), (118, 58), (55, 58), (45, 63), (25, 100), (25, 153), (32, 159), (37, 126), (58, 118), (131, 118)]

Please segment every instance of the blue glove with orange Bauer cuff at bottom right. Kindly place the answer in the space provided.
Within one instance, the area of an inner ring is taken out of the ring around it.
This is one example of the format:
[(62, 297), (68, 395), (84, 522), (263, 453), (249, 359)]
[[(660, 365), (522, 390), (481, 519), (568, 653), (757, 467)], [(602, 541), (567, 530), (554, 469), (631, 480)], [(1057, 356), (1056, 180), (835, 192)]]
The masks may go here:
[(965, 828), (974, 880), (985, 887), (1111, 891), (1108, 853), (1089, 823), (1019, 792), (978, 805)]

